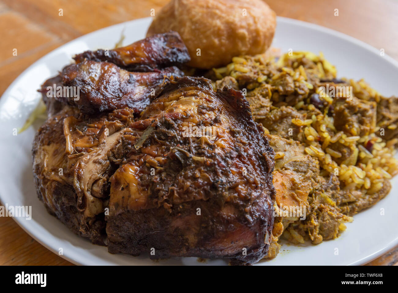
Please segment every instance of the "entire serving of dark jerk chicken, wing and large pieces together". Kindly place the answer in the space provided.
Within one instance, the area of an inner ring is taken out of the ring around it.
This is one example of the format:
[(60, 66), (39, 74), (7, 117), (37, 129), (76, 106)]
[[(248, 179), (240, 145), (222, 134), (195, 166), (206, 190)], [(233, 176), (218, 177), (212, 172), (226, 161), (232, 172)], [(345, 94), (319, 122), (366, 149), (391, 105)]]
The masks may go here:
[(269, 248), (274, 151), (242, 92), (181, 77), (184, 48), (168, 33), (111, 58), (84, 52), (47, 81), (43, 97), (56, 83), (78, 86), (80, 98), (45, 98), (52, 113), (32, 151), (37, 194), (111, 253), (252, 264)]

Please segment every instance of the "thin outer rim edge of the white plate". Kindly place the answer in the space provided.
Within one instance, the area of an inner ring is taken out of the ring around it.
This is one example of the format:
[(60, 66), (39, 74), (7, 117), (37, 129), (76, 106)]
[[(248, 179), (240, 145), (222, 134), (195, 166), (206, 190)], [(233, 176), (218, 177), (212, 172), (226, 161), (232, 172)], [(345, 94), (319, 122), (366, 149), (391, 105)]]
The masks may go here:
[[(60, 45), (59, 47), (51, 50), (49, 53), (45, 54), (44, 56), (42, 56), (41, 58), (39, 58), (37, 61), (35, 61), (34, 63), (32, 63), (29, 67), (27, 67), (27, 69), (25, 69), (22, 73), (20, 73), (20, 75), (18, 75), (18, 77), (16, 77), (16, 79), (14, 79), (14, 81), (6, 88), (6, 90), (4, 91), (4, 93), (2, 94), (1, 98), (0, 98), (0, 108), (3, 106), (3, 104), (6, 101), (7, 96), (9, 95), (9, 92), (12, 91), (12, 89), (15, 87), (16, 83), (18, 83), (18, 81), (25, 75), (27, 74), (33, 67), (37, 66), (38, 64), (40, 64), (41, 62), (43, 62), (43, 59), (48, 58), (49, 56), (51, 56), (52, 54), (55, 54), (56, 51), (59, 51), (60, 49), (67, 47), (68, 45), (70, 45), (71, 43), (74, 43), (76, 41), (81, 41), (84, 40), (85, 38), (89, 37), (92, 34), (96, 34), (96, 33), (100, 33), (101, 31), (105, 31), (107, 29), (116, 29), (118, 27), (123, 28), (123, 26), (126, 26), (127, 24), (131, 24), (134, 22), (146, 22), (148, 20), (152, 19), (152, 17), (146, 17), (146, 18), (137, 18), (134, 20), (129, 20), (126, 22), (121, 22), (119, 24), (113, 24), (111, 26), (107, 26), (101, 29), (97, 29), (95, 31), (92, 31), (90, 33), (86, 33), (84, 35), (81, 35), (80, 37), (77, 37), (76, 39), (70, 40), (67, 43), (64, 43), (62, 45)], [(328, 33), (330, 35), (334, 35), (340, 39), (343, 39), (349, 43), (353, 43), (359, 47), (362, 47), (363, 49), (371, 52), (371, 53), (375, 53), (378, 56), (380, 51), (373, 47), (372, 45), (369, 45), (368, 43), (365, 43), (364, 41), (361, 41), (359, 39), (356, 39), (355, 37), (352, 37), (350, 35), (347, 35), (345, 33), (342, 33), (340, 31), (336, 31), (334, 29), (331, 28), (326, 28), (324, 26), (320, 26), (318, 24), (313, 24), (310, 22), (305, 22), (302, 20), (296, 20), (293, 18), (287, 18), (287, 17), (282, 17), (282, 16), (277, 16), (277, 24), (278, 22), (285, 22), (287, 24), (291, 24), (294, 26), (301, 26), (301, 27), (305, 27), (305, 28), (310, 28), (310, 29), (314, 29), (316, 31), (319, 31), (321, 33)], [(390, 57), (388, 54), (385, 54), (383, 56), (383, 58), (386, 59), (386, 61), (388, 61), (388, 63), (394, 65), (394, 67), (396, 67), (397, 71), (398, 71), (398, 61), (393, 59), (392, 57)], [(391, 195), (391, 193), (389, 193), (388, 195)], [(388, 196), (387, 195), (387, 196)], [(2, 193), (0, 193), (0, 201), (4, 202), (4, 197), (2, 196)], [(372, 208), (372, 207), (370, 207)], [(58, 250), (54, 247), (51, 246), (51, 244), (47, 244), (45, 239), (42, 239), (42, 237), (40, 235), (38, 235), (38, 233), (36, 232), (34, 234), (34, 232), (32, 232), (31, 230), (29, 230), (29, 228), (27, 225), (25, 225), (22, 219), (18, 218), (18, 217), (12, 217), (14, 221), (16, 221), (16, 223), (18, 224), (18, 226), (20, 226), (27, 234), (29, 234), (29, 236), (31, 236), (33, 239), (35, 239), (37, 242), (39, 242), (42, 246), (44, 246), (45, 248), (47, 248), (48, 250), (50, 250), (51, 252), (58, 254)], [(37, 223), (39, 224), (39, 223)], [(50, 234), (52, 234), (50, 231), (48, 231)], [(368, 256), (365, 256), (355, 262), (352, 262), (350, 264), (347, 265), (362, 265), (362, 264), (366, 264), (368, 262), (370, 262), (371, 260), (374, 260), (376, 258), (378, 258), (379, 256), (381, 256), (382, 254), (388, 252), (389, 250), (391, 250), (392, 248), (394, 248), (396, 245), (398, 244), (398, 235), (396, 235), (396, 238), (392, 241), (390, 241), (388, 244), (386, 244), (384, 246), (384, 248), (374, 252), (373, 254), (370, 254)], [(94, 244), (93, 244), (94, 245)], [(76, 260), (73, 258), (74, 256), (74, 252), (70, 252), (67, 254), (63, 254), (63, 255), (59, 255), (60, 257), (62, 257), (63, 259), (71, 262), (72, 264), (75, 265), (92, 265), (92, 263), (87, 262), (86, 259), (82, 259), (82, 260)], [(109, 262), (108, 262), (109, 263)], [(112, 264), (109, 264), (112, 265)], [(113, 264), (113, 265), (117, 265), (117, 264)], [(135, 264), (132, 264), (135, 265)]]

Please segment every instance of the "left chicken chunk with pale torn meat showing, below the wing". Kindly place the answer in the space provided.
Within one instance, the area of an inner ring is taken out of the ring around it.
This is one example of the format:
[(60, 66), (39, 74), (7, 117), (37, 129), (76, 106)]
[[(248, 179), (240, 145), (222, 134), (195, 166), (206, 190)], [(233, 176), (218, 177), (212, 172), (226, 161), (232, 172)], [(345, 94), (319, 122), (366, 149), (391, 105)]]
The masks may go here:
[(103, 244), (107, 181), (120, 163), (117, 146), (131, 119), (128, 109), (88, 119), (66, 106), (48, 118), (33, 142), (39, 199), (72, 231), (96, 244)]

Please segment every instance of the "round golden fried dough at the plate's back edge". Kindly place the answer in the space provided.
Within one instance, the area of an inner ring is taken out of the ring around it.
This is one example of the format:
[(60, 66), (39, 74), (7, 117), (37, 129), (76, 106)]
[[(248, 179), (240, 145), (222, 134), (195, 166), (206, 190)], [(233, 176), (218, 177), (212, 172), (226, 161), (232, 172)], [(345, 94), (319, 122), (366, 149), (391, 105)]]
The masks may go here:
[(172, 0), (146, 35), (177, 31), (191, 55), (188, 65), (210, 69), (265, 52), (275, 25), (275, 12), (262, 0)]

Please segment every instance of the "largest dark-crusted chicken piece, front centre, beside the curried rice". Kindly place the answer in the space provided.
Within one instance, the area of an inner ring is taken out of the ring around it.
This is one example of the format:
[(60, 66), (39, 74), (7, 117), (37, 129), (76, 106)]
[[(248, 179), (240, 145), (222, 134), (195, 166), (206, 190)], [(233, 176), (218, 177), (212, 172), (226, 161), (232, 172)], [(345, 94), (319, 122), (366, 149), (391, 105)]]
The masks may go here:
[(171, 80), (125, 130), (123, 149), (125, 164), (111, 177), (109, 252), (263, 258), (274, 152), (241, 92), (214, 92), (204, 78)]

